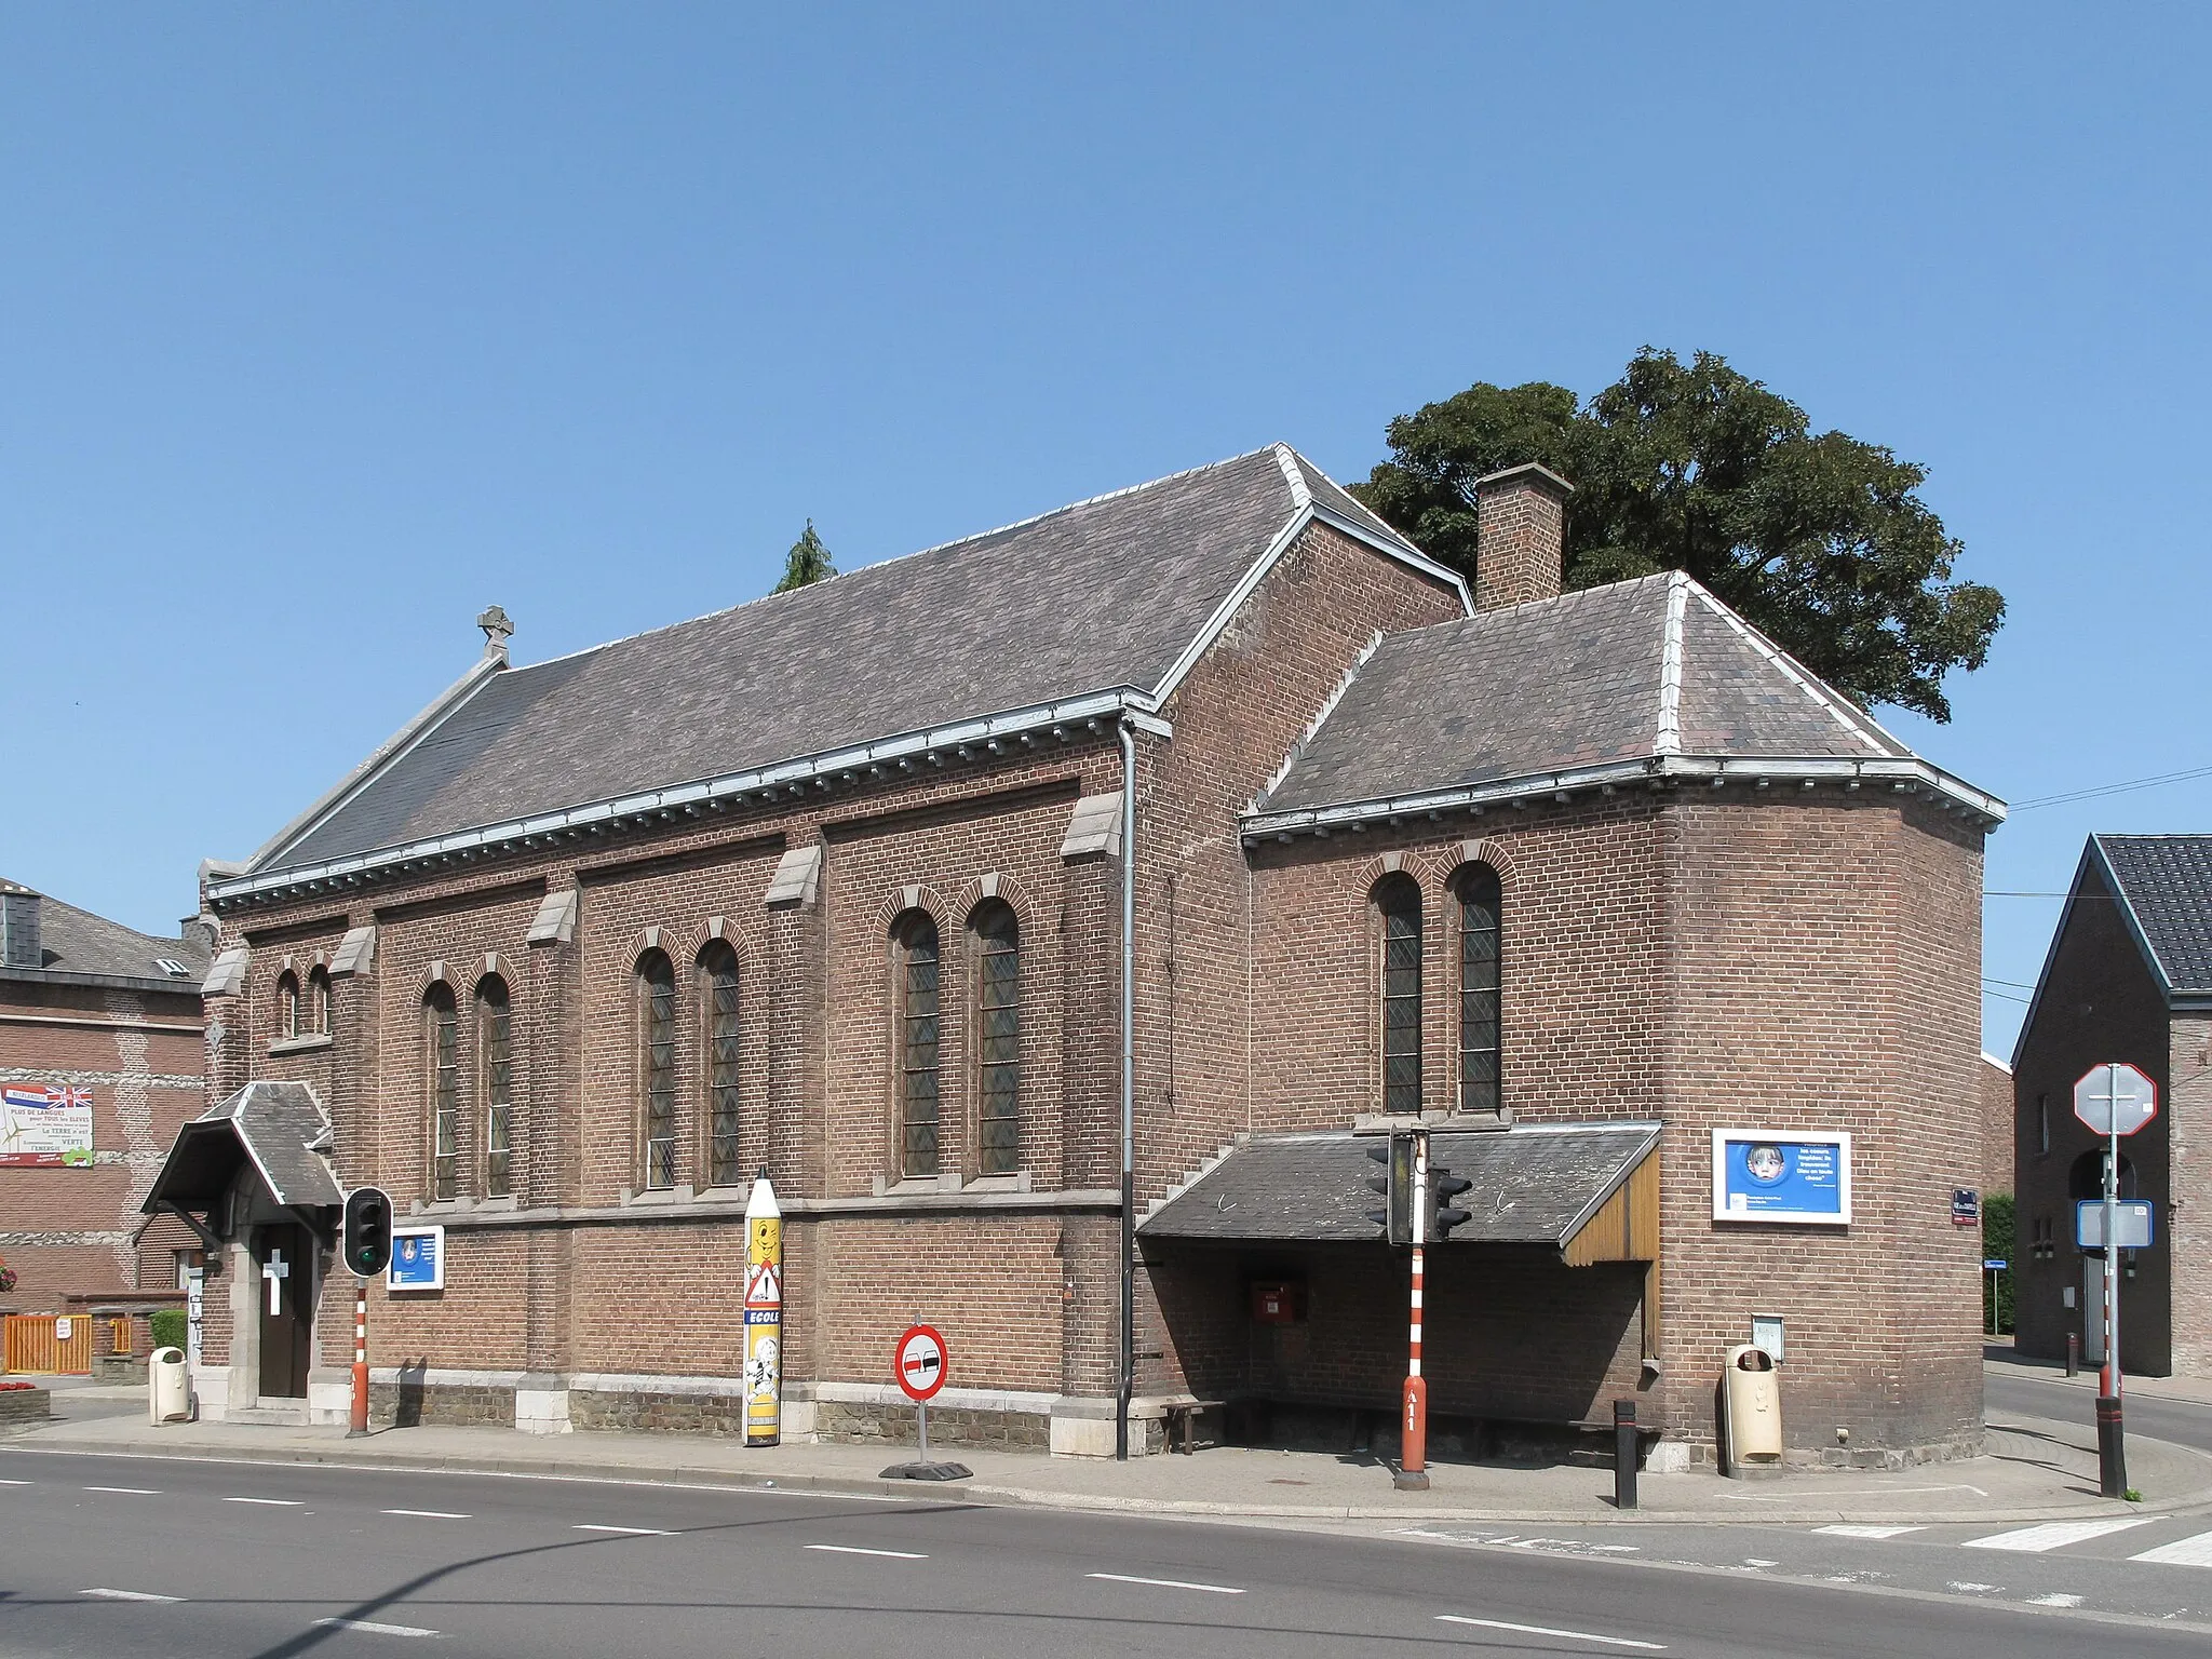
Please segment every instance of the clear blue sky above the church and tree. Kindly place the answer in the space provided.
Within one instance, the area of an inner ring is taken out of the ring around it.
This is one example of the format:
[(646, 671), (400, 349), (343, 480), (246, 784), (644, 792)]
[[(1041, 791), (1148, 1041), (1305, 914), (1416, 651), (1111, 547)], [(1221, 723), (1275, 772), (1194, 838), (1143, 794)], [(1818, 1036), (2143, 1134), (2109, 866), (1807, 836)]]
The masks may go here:
[[(1352, 480), (1644, 343), (1931, 469), (2011, 599), (1931, 759), (2212, 765), (2208, 18), (13, 4), (0, 872), (173, 929), (491, 599), (533, 661), (810, 515), (849, 568), (1276, 438)], [(1989, 885), (2190, 827), (2212, 779), (2031, 810)]]

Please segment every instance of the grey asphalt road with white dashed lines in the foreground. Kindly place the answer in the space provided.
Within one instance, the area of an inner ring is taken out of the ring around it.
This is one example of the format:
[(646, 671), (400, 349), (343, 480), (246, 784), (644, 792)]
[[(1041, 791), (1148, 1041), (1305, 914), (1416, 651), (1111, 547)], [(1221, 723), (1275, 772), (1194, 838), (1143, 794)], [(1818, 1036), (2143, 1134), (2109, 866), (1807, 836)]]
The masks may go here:
[[(1471, 1537), (980, 1509), (947, 1493), (869, 1502), (20, 1447), (0, 1447), (0, 1480), (9, 1659), (2073, 1659), (2093, 1646), (2203, 1655), (2212, 1635), (1982, 1599), (1993, 1584), (1920, 1595)], [(2212, 1601), (2212, 1568), (2170, 1571)]]

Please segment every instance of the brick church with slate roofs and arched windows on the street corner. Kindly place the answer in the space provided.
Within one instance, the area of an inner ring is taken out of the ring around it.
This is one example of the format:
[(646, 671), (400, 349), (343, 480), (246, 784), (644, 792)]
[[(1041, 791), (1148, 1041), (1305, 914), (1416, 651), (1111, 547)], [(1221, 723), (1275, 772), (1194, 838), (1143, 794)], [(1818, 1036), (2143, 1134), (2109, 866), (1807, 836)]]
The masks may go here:
[[(1422, 1119), (1475, 1181), (1440, 1422), (1635, 1396), (1710, 1447), (1783, 1316), (1807, 1455), (1978, 1447), (1949, 1197), (2002, 805), (1688, 577), (1562, 597), (1566, 495), (1482, 480), (1473, 593), (1274, 447), (526, 668), (484, 613), (206, 874), (219, 1106), (155, 1201), (228, 1239), (208, 1411), (341, 1411), (327, 1230), (374, 1181), (447, 1245), (376, 1292), (380, 1387), (730, 1431), (765, 1168), (787, 1433), (896, 1422), (914, 1318), (951, 1436), (1104, 1453), (1124, 1389), (1137, 1451), (1177, 1396), (1389, 1420), (1360, 1130)], [(1849, 1208), (1730, 1214), (1728, 1135), (1851, 1137)]]

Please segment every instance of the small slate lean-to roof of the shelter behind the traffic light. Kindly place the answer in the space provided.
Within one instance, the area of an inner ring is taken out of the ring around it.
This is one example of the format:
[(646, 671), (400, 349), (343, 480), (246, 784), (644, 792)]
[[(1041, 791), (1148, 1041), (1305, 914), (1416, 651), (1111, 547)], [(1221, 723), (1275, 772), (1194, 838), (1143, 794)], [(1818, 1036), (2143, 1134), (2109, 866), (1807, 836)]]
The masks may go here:
[[(1371, 1135), (1256, 1135), (1155, 1208), (1146, 1239), (1374, 1243)], [(1659, 1144), (1659, 1124), (1515, 1124), (1436, 1133), (1431, 1159), (1473, 1186), (1447, 1243), (1564, 1245)]]

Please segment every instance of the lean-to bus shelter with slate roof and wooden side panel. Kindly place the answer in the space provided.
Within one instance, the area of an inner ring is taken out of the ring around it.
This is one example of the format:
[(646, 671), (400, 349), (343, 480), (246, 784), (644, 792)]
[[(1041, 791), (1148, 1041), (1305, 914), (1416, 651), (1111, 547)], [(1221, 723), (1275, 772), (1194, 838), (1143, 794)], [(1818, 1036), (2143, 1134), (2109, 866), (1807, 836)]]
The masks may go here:
[[(1369, 1217), (1378, 1141), (1248, 1137), (1139, 1223), (1168, 1358), (1232, 1402), (1232, 1433), (1239, 1418), (1272, 1440), (1394, 1433), (1409, 1252)], [(1610, 1400), (1657, 1378), (1657, 1146), (1650, 1121), (1431, 1130), (1431, 1170), (1471, 1181), (1453, 1199), (1469, 1219), (1427, 1256), (1431, 1447), (1610, 1425)]]

